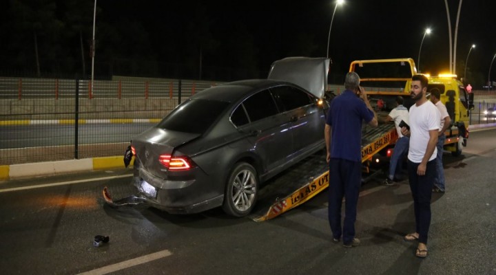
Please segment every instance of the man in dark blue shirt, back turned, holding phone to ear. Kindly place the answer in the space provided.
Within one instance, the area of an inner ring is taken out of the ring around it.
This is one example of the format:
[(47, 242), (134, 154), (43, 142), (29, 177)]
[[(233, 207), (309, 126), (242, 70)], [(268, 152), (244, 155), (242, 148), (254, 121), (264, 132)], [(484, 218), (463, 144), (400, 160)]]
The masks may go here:
[[(366, 92), (360, 87), (360, 76), (349, 72), (344, 91), (331, 101), (324, 129), (329, 163), (329, 225), (333, 241), (338, 243), (342, 236), (345, 248), (360, 244), (355, 238), (355, 220), (362, 184), (362, 120), (378, 126)], [(345, 217), (341, 227), (343, 197)]]

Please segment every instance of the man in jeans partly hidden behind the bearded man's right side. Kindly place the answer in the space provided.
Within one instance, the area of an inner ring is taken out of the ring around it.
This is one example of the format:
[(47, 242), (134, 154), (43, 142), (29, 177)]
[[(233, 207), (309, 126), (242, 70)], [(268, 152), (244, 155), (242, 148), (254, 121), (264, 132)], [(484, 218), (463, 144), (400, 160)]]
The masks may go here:
[(433, 187), (433, 192), (444, 192), (446, 185), (444, 183), (444, 168), (442, 164), (442, 154), (443, 154), (443, 147), (444, 147), (444, 141), (446, 140), (446, 135), (444, 135), (444, 131), (448, 129), (448, 127), (451, 125), (451, 118), (450, 115), (448, 114), (448, 110), (442, 104), (441, 102), (441, 91), (437, 88), (431, 89), (431, 102), (435, 104), (435, 107), (437, 107), (437, 110), (440, 111), (441, 115), (441, 126), (440, 126), (440, 131), (438, 133), (437, 137), (437, 157), (436, 157), (436, 162), (437, 162), (437, 176), (435, 177), (434, 181), (434, 187)]

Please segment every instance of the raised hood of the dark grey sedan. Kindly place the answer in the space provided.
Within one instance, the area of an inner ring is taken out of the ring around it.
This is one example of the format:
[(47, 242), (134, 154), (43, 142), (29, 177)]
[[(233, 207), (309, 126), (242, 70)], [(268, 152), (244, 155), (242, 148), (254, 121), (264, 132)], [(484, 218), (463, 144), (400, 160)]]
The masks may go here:
[(324, 98), (329, 58), (287, 57), (272, 63), (268, 79), (294, 83), (318, 98)]

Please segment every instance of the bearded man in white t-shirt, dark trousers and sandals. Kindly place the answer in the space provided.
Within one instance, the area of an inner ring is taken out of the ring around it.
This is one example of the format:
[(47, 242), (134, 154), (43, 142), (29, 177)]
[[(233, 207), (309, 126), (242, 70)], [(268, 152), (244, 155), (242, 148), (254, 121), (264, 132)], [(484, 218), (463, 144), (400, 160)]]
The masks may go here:
[(410, 136), (408, 155), (410, 190), (415, 212), (415, 232), (404, 236), (405, 241), (418, 241), (415, 256), (427, 256), (428, 230), (431, 225), (431, 197), (436, 176), (436, 144), (440, 130), (440, 113), (427, 100), (428, 79), (422, 74), (412, 76), (410, 130), (402, 127), (402, 134)]

